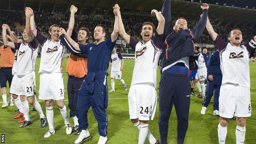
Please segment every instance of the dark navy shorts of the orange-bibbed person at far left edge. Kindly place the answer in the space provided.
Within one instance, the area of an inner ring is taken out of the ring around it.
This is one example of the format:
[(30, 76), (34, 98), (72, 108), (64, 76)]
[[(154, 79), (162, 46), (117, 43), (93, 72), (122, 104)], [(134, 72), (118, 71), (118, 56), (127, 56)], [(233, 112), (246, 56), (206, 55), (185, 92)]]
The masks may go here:
[(11, 80), (13, 77), (13, 75), (11, 74), (11, 69), (12, 67), (0, 69), (0, 86), (1, 87), (6, 87), (7, 80), (9, 82), (9, 87), (11, 87)]

